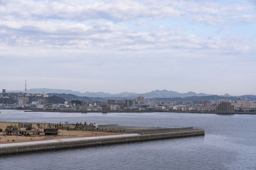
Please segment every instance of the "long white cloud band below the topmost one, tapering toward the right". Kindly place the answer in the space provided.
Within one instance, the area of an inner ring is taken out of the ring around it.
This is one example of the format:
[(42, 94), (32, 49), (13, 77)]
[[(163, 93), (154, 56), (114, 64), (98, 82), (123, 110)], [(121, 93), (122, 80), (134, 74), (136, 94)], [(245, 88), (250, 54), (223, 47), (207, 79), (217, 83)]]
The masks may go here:
[[(212, 48), (222, 52), (236, 51), (243, 46), (241, 39), (202, 39), (173, 29), (131, 31), (122, 24), (95, 22), (94, 25), (78, 23), (51, 23), (28, 20), (0, 21), (0, 43), (6, 46), (35, 46), (39, 48), (67, 48), (80, 50), (161, 50), (170, 48)], [(246, 42), (248, 43), (248, 42)], [(250, 43), (249, 43), (250, 44)], [(255, 45), (247, 45), (248, 49)], [(245, 49), (245, 48), (244, 48)], [(241, 50), (244, 52), (244, 50)]]

